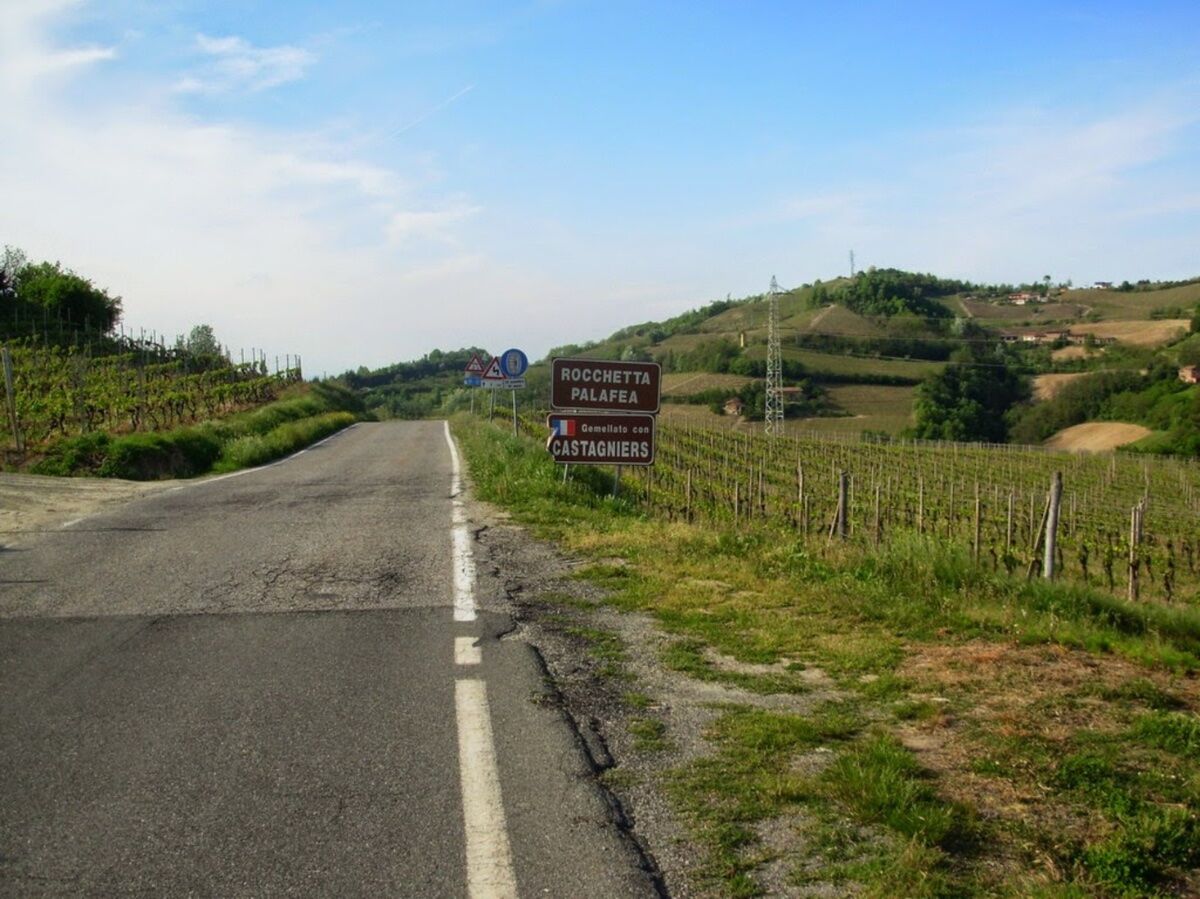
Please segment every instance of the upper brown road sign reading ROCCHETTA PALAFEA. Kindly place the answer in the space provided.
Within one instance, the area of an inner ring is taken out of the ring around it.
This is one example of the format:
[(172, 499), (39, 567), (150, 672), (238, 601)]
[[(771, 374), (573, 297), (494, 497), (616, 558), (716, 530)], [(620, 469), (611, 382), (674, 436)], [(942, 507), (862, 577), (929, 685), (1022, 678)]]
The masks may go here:
[(655, 413), (661, 383), (658, 362), (556, 359), (551, 364), (550, 407)]

